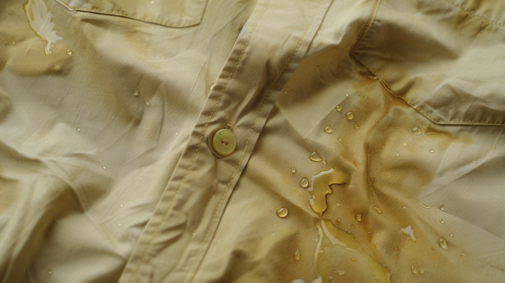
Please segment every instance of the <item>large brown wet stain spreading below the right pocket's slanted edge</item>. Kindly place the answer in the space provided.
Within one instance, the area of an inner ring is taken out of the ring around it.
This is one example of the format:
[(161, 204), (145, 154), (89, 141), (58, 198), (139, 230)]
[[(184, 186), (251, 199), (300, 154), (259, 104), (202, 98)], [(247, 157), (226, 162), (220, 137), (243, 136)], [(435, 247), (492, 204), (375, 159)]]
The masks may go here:
[[(373, 77), (370, 73), (362, 71), (358, 76), (359, 80), (352, 84), (354, 94), (363, 102), (353, 105), (358, 109), (355, 110), (354, 120), (360, 120), (359, 131), (362, 134), (362, 142), (357, 145), (345, 136), (342, 141), (336, 142), (338, 147), (342, 148), (344, 159), (347, 163), (355, 164), (354, 169), (357, 172), (352, 174), (348, 186), (328, 196), (326, 215), (331, 215), (332, 219), (340, 218), (339, 227), (344, 229), (350, 229), (351, 224), (355, 225), (356, 228), (351, 230), (354, 241), (363, 251), (379, 260), (387, 255), (380, 250), (385, 243), (382, 237), (391, 237), (389, 241), (397, 242), (398, 246), (405, 246), (410, 250), (410, 254), (421, 254), (423, 250), (431, 251), (433, 246), (431, 238), (436, 238), (437, 241), (438, 236), (426, 230), (425, 220), (420, 219), (420, 215), (417, 215), (414, 210), (416, 207), (426, 210), (419, 205), (418, 201), (423, 188), (432, 184), (436, 173), (437, 166), (430, 166), (430, 164), (440, 163), (443, 152), (450, 146), (470, 145), (474, 141), (469, 135), (454, 132), (455, 128), (451, 126), (439, 126), (428, 122), (413, 107), (390, 95), (378, 80), (369, 76)], [(364, 103), (365, 101), (367, 103)], [(369, 105), (365, 107), (364, 104)], [(414, 127), (420, 127), (422, 134), (413, 134)], [(403, 147), (403, 142), (406, 142), (408, 147)], [(432, 147), (435, 149), (434, 153), (430, 153)], [(396, 151), (400, 153), (399, 156), (395, 156)], [(338, 161), (341, 162), (341, 160)], [(348, 189), (349, 186), (352, 189)], [(342, 202), (342, 199), (349, 201)], [(332, 205), (337, 200), (342, 204), (339, 208)], [(403, 209), (403, 205), (408, 208)], [(380, 207), (381, 213), (377, 213), (374, 207)], [(425, 213), (433, 213), (433, 211), (434, 209), (431, 208)], [(362, 222), (352, 219), (357, 213), (361, 213)], [(411, 225), (414, 230), (418, 242), (407, 240), (409, 236), (401, 233), (400, 228), (406, 228), (408, 225)], [(378, 236), (374, 233), (377, 227), (390, 229), (389, 236), (382, 236), (383, 231)], [(367, 231), (372, 231), (372, 233), (368, 234)], [(322, 255), (324, 254), (326, 250)], [(406, 260), (406, 255), (406, 253), (399, 253), (393, 258)], [(444, 259), (439, 259), (437, 263), (446, 267), (451, 265)], [(423, 258), (420, 264), (419, 270), (426, 268), (426, 259)], [(395, 265), (393, 272), (398, 271), (399, 267), (400, 265)], [(412, 273), (410, 263), (407, 267), (409, 273)], [(320, 272), (323, 272), (322, 270), (328, 272), (332, 267), (330, 264), (321, 263), (320, 259), (318, 268)], [(350, 274), (356, 275), (356, 269), (348, 270), (347, 274), (349, 271), (352, 272)], [(405, 276), (398, 277), (405, 278)], [(352, 277), (352, 279), (355, 278)]]

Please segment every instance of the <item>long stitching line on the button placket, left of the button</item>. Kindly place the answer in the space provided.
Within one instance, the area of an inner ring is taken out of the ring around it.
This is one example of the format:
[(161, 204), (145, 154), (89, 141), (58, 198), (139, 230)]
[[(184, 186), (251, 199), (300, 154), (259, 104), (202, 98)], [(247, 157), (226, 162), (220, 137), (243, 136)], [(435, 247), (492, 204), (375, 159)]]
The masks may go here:
[[(266, 9), (265, 9), (265, 11), (266, 11)], [(265, 14), (265, 11), (263, 12), (263, 14)], [(263, 17), (263, 14), (262, 14), (262, 15), (261, 15), (261, 17), (260, 17), (260, 20), (261, 20), (261, 18)], [(260, 20), (258, 20), (258, 23), (260, 22)], [(138, 263), (137, 268), (135, 269), (135, 273), (133, 274), (133, 277), (132, 277), (132, 279), (130, 280), (130, 282), (133, 282), (133, 280), (135, 280), (135, 277), (137, 276), (138, 271), (140, 270), (140, 265), (142, 265), (142, 263), (143, 263), (143, 262), (144, 262), (144, 260), (145, 260), (145, 257), (147, 256), (147, 251), (149, 250), (150, 246), (153, 244), (153, 242), (154, 242), (154, 240), (155, 240), (156, 236), (158, 235), (158, 232), (160, 231), (161, 225), (162, 225), (162, 224), (165, 222), (165, 220), (167, 219), (167, 216), (168, 216), (168, 214), (169, 214), (169, 212), (170, 212), (170, 209), (172, 208), (172, 205), (173, 205), (173, 203), (174, 203), (174, 201), (175, 201), (175, 199), (176, 199), (177, 195), (179, 194), (179, 191), (180, 191), (180, 189), (181, 189), (182, 185), (184, 184), (184, 183), (183, 183), (183, 182), (184, 182), (184, 179), (185, 179), (185, 178), (186, 178), (186, 176), (188, 175), (189, 170), (191, 169), (191, 167), (192, 167), (192, 165), (193, 165), (193, 162), (194, 162), (194, 160), (195, 160), (195, 158), (196, 158), (196, 154), (198, 153), (198, 150), (199, 150), (199, 148), (200, 148), (201, 141), (202, 141), (202, 140), (203, 140), (203, 138), (204, 138), (205, 131), (207, 130), (207, 127), (209, 126), (209, 123), (211, 122), (211, 119), (212, 119), (212, 117), (213, 117), (213, 115), (214, 115), (214, 112), (216, 111), (216, 108), (217, 108), (217, 106), (218, 106), (218, 103), (219, 103), (219, 101), (221, 100), (221, 96), (223, 95), (223, 93), (224, 93), (224, 91), (225, 91), (225, 89), (226, 89), (226, 86), (228, 86), (228, 83), (230, 82), (230, 79), (231, 79), (231, 77), (232, 77), (233, 73), (235, 72), (235, 69), (237, 68), (238, 63), (240, 62), (240, 59), (242, 59), (242, 55), (244, 54), (245, 48), (246, 48), (246, 47), (247, 47), (247, 45), (249, 44), (249, 40), (250, 40), (250, 38), (251, 38), (251, 36), (252, 36), (252, 33), (254, 33), (254, 31), (256, 30), (256, 27), (258, 26), (258, 23), (256, 23), (256, 26), (252, 29), (251, 33), (249, 34), (249, 37), (247, 38), (247, 42), (245, 43), (244, 48), (242, 48), (242, 51), (240, 52), (240, 55), (239, 55), (239, 57), (238, 57), (238, 59), (237, 59), (237, 62), (235, 63), (235, 66), (233, 67), (233, 70), (231, 71), (231, 74), (230, 74), (230, 76), (228, 77), (228, 79), (227, 79), (227, 81), (226, 81), (226, 84), (224, 85), (223, 89), (221, 90), (221, 93), (219, 94), (218, 99), (216, 100), (216, 104), (214, 105), (214, 109), (212, 110), (211, 115), (209, 116), (209, 120), (208, 120), (208, 121), (207, 121), (207, 123), (205, 124), (205, 127), (204, 127), (203, 132), (201, 133), (200, 140), (198, 141), (198, 145), (196, 146), (196, 150), (195, 150), (195, 152), (194, 152), (193, 158), (191, 159), (191, 163), (189, 164), (189, 166), (188, 166), (188, 169), (187, 169), (186, 173), (185, 173), (185, 174), (184, 174), (184, 176), (182, 177), (182, 179), (181, 179), (181, 181), (180, 181), (180, 182), (181, 182), (181, 184), (180, 184), (180, 185), (179, 185), (179, 187), (177, 188), (177, 190), (176, 190), (176, 192), (175, 192), (175, 195), (174, 195), (174, 197), (172, 198), (172, 201), (170, 202), (169, 207), (167, 208), (167, 210), (166, 210), (165, 214), (163, 215), (162, 220), (160, 221), (160, 223), (158, 224), (158, 227), (157, 227), (157, 228), (156, 228), (156, 230), (155, 230), (155, 233), (153, 234), (153, 236), (151, 237), (151, 240), (150, 240), (150, 241), (149, 241), (149, 243), (147, 244), (147, 247), (145, 248), (144, 253), (142, 254), (142, 258), (140, 259), (140, 262)]]

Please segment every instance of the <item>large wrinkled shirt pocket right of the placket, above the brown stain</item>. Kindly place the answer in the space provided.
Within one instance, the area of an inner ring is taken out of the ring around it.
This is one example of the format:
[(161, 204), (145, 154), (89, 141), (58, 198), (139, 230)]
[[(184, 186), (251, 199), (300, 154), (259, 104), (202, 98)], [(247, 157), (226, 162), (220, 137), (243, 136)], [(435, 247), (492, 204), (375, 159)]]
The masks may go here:
[(382, 1), (352, 55), (436, 124), (505, 126), (505, 2), (459, 4)]

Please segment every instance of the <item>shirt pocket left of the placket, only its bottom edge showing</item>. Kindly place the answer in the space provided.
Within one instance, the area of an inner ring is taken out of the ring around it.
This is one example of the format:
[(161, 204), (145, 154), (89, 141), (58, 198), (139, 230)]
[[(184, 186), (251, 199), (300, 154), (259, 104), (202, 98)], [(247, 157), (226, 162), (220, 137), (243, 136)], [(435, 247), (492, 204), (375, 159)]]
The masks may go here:
[(130, 18), (167, 27), (201, 22), (207, 0), (56, 0), (69, 10)]

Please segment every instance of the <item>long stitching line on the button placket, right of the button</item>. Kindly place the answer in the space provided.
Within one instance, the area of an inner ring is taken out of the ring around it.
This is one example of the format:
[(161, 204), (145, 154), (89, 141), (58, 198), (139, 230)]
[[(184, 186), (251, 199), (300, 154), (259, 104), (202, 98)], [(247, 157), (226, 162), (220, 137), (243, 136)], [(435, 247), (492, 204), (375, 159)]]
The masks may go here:
[[(321, 4), (322, 4), (322, 1), (320, 2), (319, 7), (321, 7)], [(320, 8), (319, 8), (319, 9), (320, 9)], [(221, 202), (219, 203), (219, 206), (218, 206), (218, 208), (216, 209), (216, 212), (214, 213), (214, 217), (213, 217), (213, 219), (212, 219), (212, 222), (211, 222), (211, 224), (209, 225), (209, 229), (207, 230), (207, 233), (206, 233), (205, 238), (204, 238), (204, 241), (203, 241), (204, 243), (207, 241), (207, 238), (208, 238), (208, 237), (209, 237), (209, 235), (210, 235), (210, 232), (211, 232), (212, 227), (213, 227), (213, 225), (214, 225), (214, 221), (216, 220), (216, 217), (217, 217), (218, 211), (219, 211), (219, 209), (221, 208), (221, 205), (223, 204), (224, 199), (226, 198), (226, 194), (227, 194), (227, 192), (228, 192), (228, 189), (230, 188), (231, 182), (232, 182), (232, 181), (233, 181), (233, 179), (235, 178), (235, 175), (236, 175), (236, 174), (237, 174), (237, 172), (238, 172), (238, 168), (239, 168), (240, 164), (242, 163), (242, 160), (243, 160), (243, 158), (244, 158), (244, 156), (245, 156), (245, 151), (247, 150), (247, 147), (248, 147), (248, 145), (249, 145), (249, 139), (250, 139), (250, 136), (252, 135), (252, 132), (254, 131), (254, 129), (255, 129), (255, 127), (256, 127), (256, 123), (258, 122), (258, 118), (259, 118), (259, 116), (260, 116), (260, 114), (261, 114), (261, 111), (263, 110), (263, 107), (265, 106), (265, 104), (267, 103), (268, 99), (270, 98), (270, 94), (272, 93), (272, 89), (273, 89), (273, 88), (274, 88), (274, 86), (277, 84), (277, 82), (279, 82), (279, 80), (281, 79), (282, 75), (284, 75), (284, 73), (286, 72), (286, 70), (287, 70), (287, 68), (289, 67), (289, 65), (291, 65), (291, 61), (293, 60), (294, 56), (296, 55), (296, 52), (298, 51), (298, 48), (300, 47), (301, 42), (304, 40), (305, 35), (307, 35), (307, 32), (308, 32), (308, 31), (309, 31), (309, 29), (311, 28), (312, 23), (314, 22), (314, 19), (315, 19), (315, 18), (316, 18), (316, 16), (319, 14), (319, 13), (318, 13), (318, 12), (319, 12), (319, 9), (318, 9), (318, 11), (316, 12), (316, 14), (314, 15), (314, 17), (312, 18), (312, 21), (311, 21), (311, 23), (309, 24), (309, 27), (308, 27), (308, 28), (307, 28), (307, 30), (305, 31), (304, 35), (302, 35), (302, 36), (301, 36), (301, 38), (300, 38), (300, 40), (298, 41), (298, 45), (296, 45), (296, 48), (295, 48), (295, 50), (294, 50), (293, 54), (291, 54), (291, 58), (289, 58), (289, 61), (288, 61), (288, 63), (286, 64), (286, 67), (284, 67), (284, 70), (282, 70), (281, 74), (277, 77), (277, 79), (275, 80), (275, 82), (274, 82), (274, 83), (272, 84), (272, 86), (270, 87), (270, 89), (269, 89), (269, 91), (268, 91), (268, 93), (267, 93), (267, 96), (265, 97), (265, 100), (263, 101), (263, 104), (261, 105), (260, 110), (258, 111), (258, 114), (256, 115), (256, 118), (255, 118), (254, 124), (252, 124), (252, 127), (251, 127), (251, 129), (250, 129), (250, 131), (249, 131), (249, 135), (247, 136), (247, 140), (246, 140), (246, 142), (245, 142), (245, 146), (244, 146), (244, 150), (242, 151), (242, 155), (240, 156), (240, 160), (239, 160), (239, 162), (238, 162), (237, 166), (235, 167), (235, 171), (233, 172), (233, 175), (232, 175), (232, 177), (231, 177), (231, 179), (230, 179), (230, 182), (228, 183), (228, 186), (226, 187), (226, 189), (225, 189), (225, 191), (224, 191), (224, 193), (223, 193), (223, 197), (221, 198)], [(198, 249), (198, 254), (196, 255), (196, 257), (197, 257), (197, 258), (199, 257), (199, 255), (200, 255), (200, 253), (201, 253), (201, 251), (202, 251), (202, 250), (203, 250), (203, 247), (200, 247), (200, 248)], [(195, 264), (195, 261), (193, 261), (193, 263), (191, 264), (191, 267), (189, 268), (189, 271), (188, 271), (188, 273), (187, 273), (187, 275), (186, 275), (186, 279), (184, 279), (184, 282), (187, 282), (187, 280), (188, 280), (188, 278), (189, 278), (189, 275), (191, 274), (191, 272), (192, 272), (192, 270), (193, 270), (193, 266), (194, 266), (194, 264)]]

